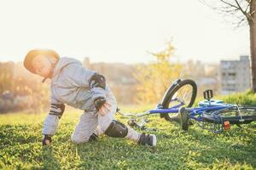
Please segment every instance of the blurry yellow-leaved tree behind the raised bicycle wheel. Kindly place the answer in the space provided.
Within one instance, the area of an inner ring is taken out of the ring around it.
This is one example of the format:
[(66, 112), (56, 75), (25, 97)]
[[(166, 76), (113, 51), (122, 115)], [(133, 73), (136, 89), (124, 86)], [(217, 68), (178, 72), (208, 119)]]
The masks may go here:
[(159, 102), (170, 84), (180, 77), (182, 65), (172, 62), (174, 47), (169, 42), (166, 49), (150, 53), (155, 61), (148, 65), (137, 65), (137, 102), (153, 104)]

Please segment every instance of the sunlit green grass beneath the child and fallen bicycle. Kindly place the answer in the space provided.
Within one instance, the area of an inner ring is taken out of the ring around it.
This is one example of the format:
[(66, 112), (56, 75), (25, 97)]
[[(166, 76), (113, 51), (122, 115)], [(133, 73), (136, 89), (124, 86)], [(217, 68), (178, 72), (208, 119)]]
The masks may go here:
[[(256, 104), (253, 94), (236, 94), (224, 99), (239, 103), (250, 99), (247, 102)], [(147, 108), (130, 107), (125, 111)], [(43, 147), (41, 129), (46, 115), (0, 116), (0, 169), (256, 168), (255, 122), (242, 128), (233, 126), (221, 134), (207, 132), (196, 125), (183, 133), (176, 125), (152, 116), (148, 127), (157, 127), (158, 145), (155, 148), (107, 136), (96, 142), (73, 144), (70, 136), (81, 111), (66, 111), (53, 144)], [(125, 118), (117, 117), (126, 122)]]

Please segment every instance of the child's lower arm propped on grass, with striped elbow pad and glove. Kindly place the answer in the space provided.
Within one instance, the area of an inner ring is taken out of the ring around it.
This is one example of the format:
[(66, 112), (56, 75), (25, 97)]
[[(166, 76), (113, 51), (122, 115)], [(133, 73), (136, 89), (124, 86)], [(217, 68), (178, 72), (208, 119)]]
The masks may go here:
[(43, 145), (51, 143), (51, 137), (55, 134), (59, 120), (65, 110), (65, 105), (55, 102), (53, 99), (51, 101), (49, 115), (44, 119), (43, 130), (44, 134)]

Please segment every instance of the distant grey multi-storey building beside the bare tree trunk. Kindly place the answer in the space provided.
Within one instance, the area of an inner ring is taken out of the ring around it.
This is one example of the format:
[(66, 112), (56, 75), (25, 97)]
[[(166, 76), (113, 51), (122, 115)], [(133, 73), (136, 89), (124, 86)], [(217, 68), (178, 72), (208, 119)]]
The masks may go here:
[(247, 55), (240, 56), (240, 60), (222, 60), (221, 94), (244, 92), (251, 87), (250, 60)]

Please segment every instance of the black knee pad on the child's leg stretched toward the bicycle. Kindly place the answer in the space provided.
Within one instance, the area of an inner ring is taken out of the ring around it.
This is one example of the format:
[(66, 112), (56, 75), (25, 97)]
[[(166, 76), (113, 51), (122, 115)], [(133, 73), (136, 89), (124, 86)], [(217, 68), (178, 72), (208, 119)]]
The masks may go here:
[(107, 128), (105, 134), (113, 138), (125, 138), (128, 133), (128, 128), (121, 122), (112, 121)]

